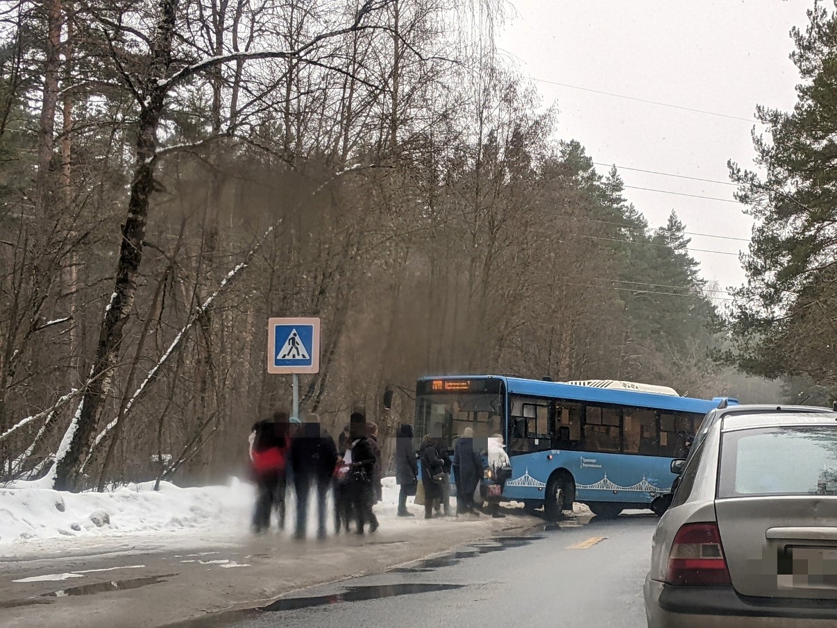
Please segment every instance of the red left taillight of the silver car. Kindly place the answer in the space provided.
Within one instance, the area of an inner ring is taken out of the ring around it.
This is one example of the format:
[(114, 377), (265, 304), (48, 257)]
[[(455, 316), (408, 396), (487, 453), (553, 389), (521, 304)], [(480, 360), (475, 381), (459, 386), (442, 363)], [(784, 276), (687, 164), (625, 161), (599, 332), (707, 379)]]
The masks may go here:
[(730, 584), (717, 523), (687, 523), (677, 531), (665, 582), (684, 586)]

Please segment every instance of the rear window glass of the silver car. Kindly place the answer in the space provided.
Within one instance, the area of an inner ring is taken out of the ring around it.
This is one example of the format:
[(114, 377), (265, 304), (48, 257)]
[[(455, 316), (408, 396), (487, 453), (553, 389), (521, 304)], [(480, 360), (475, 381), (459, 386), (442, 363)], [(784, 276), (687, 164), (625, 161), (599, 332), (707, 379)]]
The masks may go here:
[(837, 496), (837, 425), (726, 432), (717, 497)]

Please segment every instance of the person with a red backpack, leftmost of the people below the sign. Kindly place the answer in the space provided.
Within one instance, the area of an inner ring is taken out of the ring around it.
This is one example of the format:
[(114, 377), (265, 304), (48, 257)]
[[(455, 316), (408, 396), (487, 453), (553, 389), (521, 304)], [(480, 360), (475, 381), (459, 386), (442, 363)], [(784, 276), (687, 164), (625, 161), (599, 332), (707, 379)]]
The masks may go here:
[(285, 526), (285, 470), (290, 439), (285, 415), (277, 412), (275, 421), (261, 420), (250, 435), (250, 466), (256, 483), (256, 507), (252, 529), (255, 533), (270, 528), (274, 508), (280, 529)]

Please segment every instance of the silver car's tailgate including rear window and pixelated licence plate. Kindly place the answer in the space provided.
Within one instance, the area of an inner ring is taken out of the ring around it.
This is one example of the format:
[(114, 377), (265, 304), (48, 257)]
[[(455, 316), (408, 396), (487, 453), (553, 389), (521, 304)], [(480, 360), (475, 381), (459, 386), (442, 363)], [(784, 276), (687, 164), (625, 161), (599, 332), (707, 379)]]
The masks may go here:
[(730, 430), (715, 510), (742, 595), (837, 599), (837, 425)]

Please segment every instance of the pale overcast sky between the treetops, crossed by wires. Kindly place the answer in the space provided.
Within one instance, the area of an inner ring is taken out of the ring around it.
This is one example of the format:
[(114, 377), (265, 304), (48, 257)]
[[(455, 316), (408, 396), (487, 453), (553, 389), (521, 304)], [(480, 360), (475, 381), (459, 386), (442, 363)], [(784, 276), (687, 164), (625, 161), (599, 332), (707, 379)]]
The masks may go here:
[[(559, 134), (593, 161), (728, 182), (727, 160), (751, 167), (757, 104), (791, 109), (796, 68), (790, 28), (807, 23), (812, 0), (511, 0), (501, 51), (539, 80), (557, 103)], [(736, 120), (588, 90), (711, 111)], [(761, 128), (761, 125), (758, 125)], [(597, 166), (607, 172), (607, 166)], [(732, 199), (734, 187), (620, 169), (628, 186)], [(653, 226), (675, 209), (687, 230), (749, 238), (752, 219), (737, 203), (629, 188), (625, 196)], [(691, 235), (702, 274), (721, 288), (745, 275), (736, 255), (747, 243)], [(720, 294), (717, 296), (727, 296)]]

